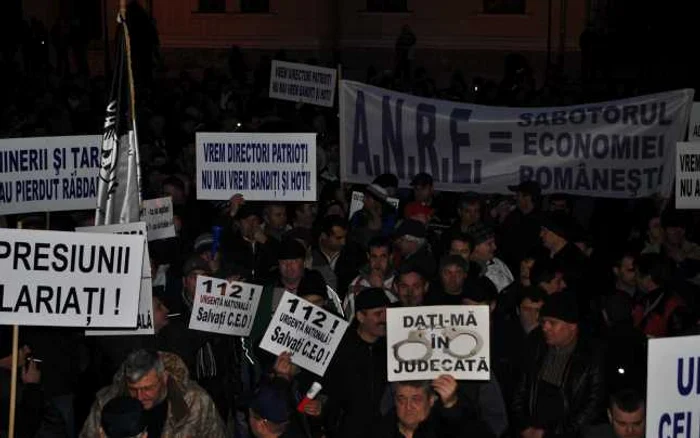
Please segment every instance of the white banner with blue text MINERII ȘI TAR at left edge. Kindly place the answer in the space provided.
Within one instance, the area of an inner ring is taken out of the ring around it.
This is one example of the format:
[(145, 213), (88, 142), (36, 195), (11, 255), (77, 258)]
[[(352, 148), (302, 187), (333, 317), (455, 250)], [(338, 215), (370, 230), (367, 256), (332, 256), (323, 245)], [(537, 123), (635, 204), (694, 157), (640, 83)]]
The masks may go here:
[(0, 214), (97, 205), (99, 135), (0, 140)]

